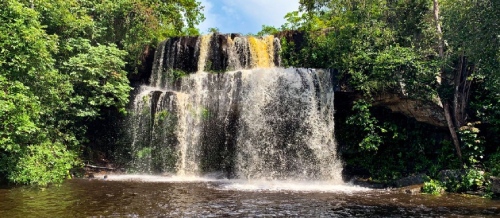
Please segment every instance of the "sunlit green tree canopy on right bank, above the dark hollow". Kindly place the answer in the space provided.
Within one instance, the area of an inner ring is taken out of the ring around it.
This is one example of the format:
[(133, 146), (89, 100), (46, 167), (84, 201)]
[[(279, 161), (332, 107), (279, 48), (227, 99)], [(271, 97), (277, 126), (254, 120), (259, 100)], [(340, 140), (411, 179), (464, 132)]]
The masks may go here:
[(305, 15), (290, 13), (289, 26), (315, 31), (308, 34), (300, 55), (287, 54), (298, 58), (284, 63), (301, 65), (304, 60), (308, 67), (312, 63), (339, 69), (365, 100), (381, 90), (404, 91), (407, 97), (424, 101), (439, 99), (458, 159), (467, 144), (482, 143), (469, 140), (477, 132), (470, 133), (474, 137), (464, 135), (478, 123), (474, 120), (490, 125), (487, 131), (500, 129), (498, 1), (300, 3)]

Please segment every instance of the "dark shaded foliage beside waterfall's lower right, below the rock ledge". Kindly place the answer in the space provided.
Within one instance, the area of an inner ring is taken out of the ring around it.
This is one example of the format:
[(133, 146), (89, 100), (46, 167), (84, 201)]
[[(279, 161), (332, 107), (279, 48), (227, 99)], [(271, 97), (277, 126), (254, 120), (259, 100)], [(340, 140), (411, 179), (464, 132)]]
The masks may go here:
[[(440, 128), (418, 123), (403, 115), (387, 116), (388, 109), (370, 107), (370, 117), (376, 119), (375, 130), (382, 143), (377, 150), (367, 150), (360, 142), (367, 135), (363, 125), (340, 125), (335, 128), (336, 139), (346, 169), (366, 172), (374, 181), (392, 182), (401, 177), (417, 173), (435, 176), (443, 169), (460, 167), (454, 158), (450, 144), (443, 144)], [(337, 114), (341, 119), (352, 119), (359, 111), (350, 111), (347, 115)], [(347, 118), (346, 118), (347, 117)], [(383, 131), (382, 131), (383, 130)]]

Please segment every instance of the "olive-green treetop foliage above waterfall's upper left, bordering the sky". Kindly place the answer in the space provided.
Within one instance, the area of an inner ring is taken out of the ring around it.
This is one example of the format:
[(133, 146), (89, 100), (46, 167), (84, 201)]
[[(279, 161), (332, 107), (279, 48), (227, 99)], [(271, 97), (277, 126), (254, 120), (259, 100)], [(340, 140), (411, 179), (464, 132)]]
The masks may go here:
[[(199, 34), (195, 28), (204, 16), (195, 0), (91, 1), (97, 41), (115, 43), (126, 50), (130, 67), (140, 64), (145, 45), (171, 36)], [(133, 68), (132, 68), (133, 69)]]

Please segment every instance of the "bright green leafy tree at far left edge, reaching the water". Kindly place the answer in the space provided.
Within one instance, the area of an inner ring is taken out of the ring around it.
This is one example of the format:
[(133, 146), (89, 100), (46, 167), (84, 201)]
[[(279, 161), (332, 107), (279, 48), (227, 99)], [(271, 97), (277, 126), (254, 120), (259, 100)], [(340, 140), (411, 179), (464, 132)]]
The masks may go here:
[[(39, 14), (12, 0), (0, 5), (0, 173), (13, 182), (45, 185), (52, 181), (45, 176), (64, 178), (77, 163), (52, 117), (67, 108), (71, 86), (54, 68), (57, 37), (45, 33)], [(41, 163), (47, 170), (31, 171)]]

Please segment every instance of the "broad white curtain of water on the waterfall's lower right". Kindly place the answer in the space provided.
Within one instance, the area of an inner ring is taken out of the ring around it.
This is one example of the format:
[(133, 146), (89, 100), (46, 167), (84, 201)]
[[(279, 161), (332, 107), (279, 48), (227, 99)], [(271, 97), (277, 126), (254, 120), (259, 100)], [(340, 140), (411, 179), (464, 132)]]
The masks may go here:
[(242, 81), (238, 176), (341, 181), (329, 73), (258, 69)]

